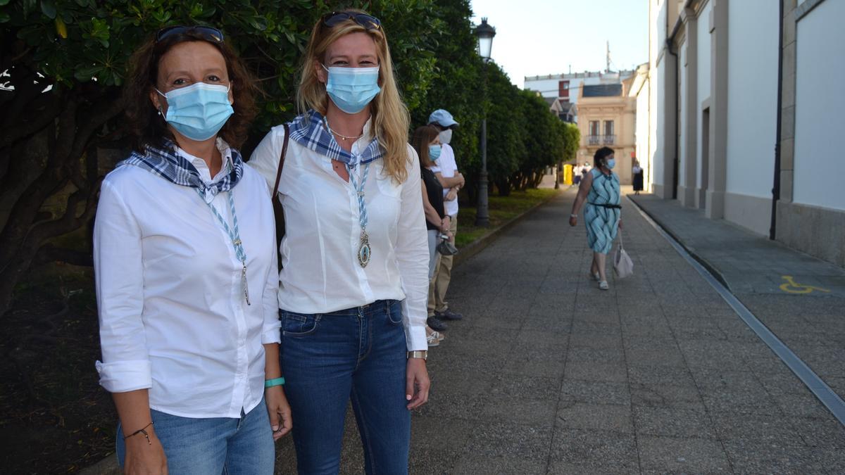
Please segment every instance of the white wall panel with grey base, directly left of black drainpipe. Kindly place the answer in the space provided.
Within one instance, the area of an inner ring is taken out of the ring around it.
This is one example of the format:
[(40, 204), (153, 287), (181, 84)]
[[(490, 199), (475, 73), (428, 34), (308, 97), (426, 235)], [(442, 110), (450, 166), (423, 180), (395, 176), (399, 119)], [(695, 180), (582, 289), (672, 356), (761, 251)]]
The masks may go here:
[(728, 8), (725, 219), (766, 234), (777, 139), (778, 6), (744, 0)]

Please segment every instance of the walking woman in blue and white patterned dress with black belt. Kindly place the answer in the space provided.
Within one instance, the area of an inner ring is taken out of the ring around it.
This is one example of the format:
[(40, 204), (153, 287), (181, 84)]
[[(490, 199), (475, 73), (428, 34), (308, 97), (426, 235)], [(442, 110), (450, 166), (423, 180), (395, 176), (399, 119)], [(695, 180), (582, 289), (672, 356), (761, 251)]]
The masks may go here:
[(604, 265), (616, 232), (622, 227), (622, 207), (619, 205), (619, 176), (613, 173), (616, 160), (613, 149), (602, 147), (593, 156), (593, 168), (586, 174), (578, 188), (578, 196), (572, 205), (570, 226), (578, 224), (578, 212), (586, 201), (584, 221), (586, 239), (592, 249), (592, 278), (598, 281), (598, 288), (608, 290), (608, 276)]

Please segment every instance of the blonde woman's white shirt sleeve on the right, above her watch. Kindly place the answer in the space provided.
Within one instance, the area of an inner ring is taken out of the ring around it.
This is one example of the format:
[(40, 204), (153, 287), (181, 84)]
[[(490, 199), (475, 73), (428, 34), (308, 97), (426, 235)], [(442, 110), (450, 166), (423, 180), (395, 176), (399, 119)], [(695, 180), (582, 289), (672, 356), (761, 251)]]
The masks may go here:
[(427, 350), (428, 232), (423, 212), (423, 192), (417, 151), (408, 146), (411, 162), (401, 192), (401, 212), (396, 238), (396, 261), (405, 300), (402, 320), (408, 351)]

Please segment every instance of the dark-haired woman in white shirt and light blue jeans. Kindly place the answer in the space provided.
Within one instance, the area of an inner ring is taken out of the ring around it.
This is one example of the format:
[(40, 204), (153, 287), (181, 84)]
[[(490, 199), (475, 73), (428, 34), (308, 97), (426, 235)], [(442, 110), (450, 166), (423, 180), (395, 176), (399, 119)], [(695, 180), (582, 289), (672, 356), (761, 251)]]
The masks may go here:
[(94, 227), (100, 383), (126, 473), (264, 473), (291, 429), (270, 194), (237, 145), (254, 83), (220, 30), (172, 26), (132, 60), (132, 155)]

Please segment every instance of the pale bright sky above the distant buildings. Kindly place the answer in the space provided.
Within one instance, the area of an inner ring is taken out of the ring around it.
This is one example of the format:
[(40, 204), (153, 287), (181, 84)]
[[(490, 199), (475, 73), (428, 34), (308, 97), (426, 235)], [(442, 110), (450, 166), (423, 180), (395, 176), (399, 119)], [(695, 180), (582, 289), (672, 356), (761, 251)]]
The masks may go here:
[(649, 0), (471, 0), (473, 23), (496, 29), (491, 56), (510, 81), (525, 76), (632, 69), (648, 61)]

